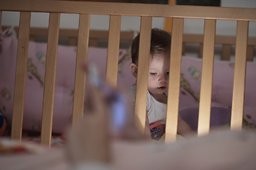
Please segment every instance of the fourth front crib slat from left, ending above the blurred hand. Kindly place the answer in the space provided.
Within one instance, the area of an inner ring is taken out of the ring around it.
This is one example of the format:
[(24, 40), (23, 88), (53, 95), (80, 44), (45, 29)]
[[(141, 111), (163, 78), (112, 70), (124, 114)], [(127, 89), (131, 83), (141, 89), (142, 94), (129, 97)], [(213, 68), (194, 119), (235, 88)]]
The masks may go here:
[(110, 32), (107, 47), (106, 81), (111, 86), (117, 86), (117, 67), (119, 56), (121, 16), (110, 16)]

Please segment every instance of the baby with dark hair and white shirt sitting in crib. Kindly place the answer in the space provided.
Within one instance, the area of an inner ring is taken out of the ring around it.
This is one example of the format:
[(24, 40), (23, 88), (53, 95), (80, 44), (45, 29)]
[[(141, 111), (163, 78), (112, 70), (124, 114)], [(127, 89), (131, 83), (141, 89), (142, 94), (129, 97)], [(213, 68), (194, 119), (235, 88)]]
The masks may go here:
[[(146, 98), (146, 128), (150, 129), (151, 138), (159, 140), (164, 134), (166, 123), (167, 90), (169, 82), (169, 66), (171, 51), (171, 35), (164, 30), (151, 30), (149, 81)], [(137, 78), (139, 56), (139, 35), (132, 42), (132, 63), (129, 64), (132, 75)], [(135, 101), (137, 84), (129, 91)], [(147, 121), (149, 121), (147, 123)], [(149, 126), (147, 126), (149, 124)], [(178, 134), (190, 137), (195, 132), (178, 114)]]

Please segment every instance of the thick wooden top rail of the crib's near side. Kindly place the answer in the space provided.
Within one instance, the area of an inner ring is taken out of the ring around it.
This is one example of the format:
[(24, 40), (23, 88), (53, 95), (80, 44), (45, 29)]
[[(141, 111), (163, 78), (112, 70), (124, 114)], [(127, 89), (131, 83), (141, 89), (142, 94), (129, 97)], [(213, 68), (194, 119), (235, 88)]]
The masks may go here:
[(256, 8), (215, 6), (171, 6), (91, 1), (1, 0), (1, 10), (256, 21)]

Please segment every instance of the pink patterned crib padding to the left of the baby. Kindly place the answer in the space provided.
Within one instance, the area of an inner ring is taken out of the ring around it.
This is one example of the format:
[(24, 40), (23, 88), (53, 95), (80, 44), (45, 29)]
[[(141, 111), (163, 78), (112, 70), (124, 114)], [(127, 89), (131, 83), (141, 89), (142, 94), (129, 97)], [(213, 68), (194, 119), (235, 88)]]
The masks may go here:
[[(4, 37), (0, 53), (0, 112), (11, 123), (14, 100), (14, 79), (16, 72), (16, 50), (18, 40)], [(41, 130), (43, 108), (43, 84), (46, 65), (46, 43), (29, 42), (28, 66), (23, 113), (24, 130)], [(75, 80), (76, 47), (58, 46), (56, 65), (55, 96), (53, 106), (53, 132), (62, 133), (70, 123), (73, 111), (73, 89)], [(119, 50), (119, 58), (127, 50)], [(105, 74), (107, 49), (89, 47), (88, 62), (95, 62), (102, 74)], [(119, 84), (125, 77), (118, 75)]]

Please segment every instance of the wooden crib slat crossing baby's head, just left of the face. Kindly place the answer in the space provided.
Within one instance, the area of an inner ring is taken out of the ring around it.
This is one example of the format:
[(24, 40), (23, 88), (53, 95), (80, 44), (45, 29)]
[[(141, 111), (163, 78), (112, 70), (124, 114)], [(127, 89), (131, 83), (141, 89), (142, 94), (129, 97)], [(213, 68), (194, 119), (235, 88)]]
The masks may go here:
[[(139, 37), (137, 92), (135, 98), (134, 124), (144, 134), (146, 121), (146, 92), (149, 75), (149, 53), (152, 17), (142, 16)], [(146, 75), (146, 76), (145, 76)]]

